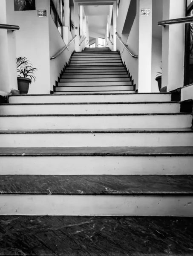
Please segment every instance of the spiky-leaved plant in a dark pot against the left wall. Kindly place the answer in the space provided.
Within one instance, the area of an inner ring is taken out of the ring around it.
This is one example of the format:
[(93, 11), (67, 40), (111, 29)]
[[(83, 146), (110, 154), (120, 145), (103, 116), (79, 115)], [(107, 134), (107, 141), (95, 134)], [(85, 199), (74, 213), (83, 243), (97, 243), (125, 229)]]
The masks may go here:
[(17, 85), (20, 94), (27, 94), (29, 90), (29, 84), (32, 83), (32, 79), (35, 81), (36, 77), (34, 75), (37, 68), (33, 68), (32, 64), (29, 63), (26, 57), (19, 57), (16, 59), (17, 63)]

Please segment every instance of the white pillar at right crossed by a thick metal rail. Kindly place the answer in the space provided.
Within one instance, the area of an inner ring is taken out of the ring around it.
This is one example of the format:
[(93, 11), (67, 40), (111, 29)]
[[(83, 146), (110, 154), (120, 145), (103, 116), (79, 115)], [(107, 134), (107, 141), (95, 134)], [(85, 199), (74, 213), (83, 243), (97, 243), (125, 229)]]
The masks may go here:
[[(185, 0), (163, 0), (163, 20), (185, 16)], [(175, 90), (184, 84), (184, 24), (163, 27), (161, 87)]]

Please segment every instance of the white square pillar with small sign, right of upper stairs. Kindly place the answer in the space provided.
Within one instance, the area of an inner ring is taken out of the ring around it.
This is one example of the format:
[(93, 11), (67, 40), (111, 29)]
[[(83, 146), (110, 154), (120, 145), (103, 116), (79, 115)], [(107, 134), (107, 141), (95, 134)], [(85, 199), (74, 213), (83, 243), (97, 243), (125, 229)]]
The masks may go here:
[[(150, 9), (150, 16), (141, 16), (141, 9)], [(152, 0), (139, 1), (138, 92), (151, 92)]]

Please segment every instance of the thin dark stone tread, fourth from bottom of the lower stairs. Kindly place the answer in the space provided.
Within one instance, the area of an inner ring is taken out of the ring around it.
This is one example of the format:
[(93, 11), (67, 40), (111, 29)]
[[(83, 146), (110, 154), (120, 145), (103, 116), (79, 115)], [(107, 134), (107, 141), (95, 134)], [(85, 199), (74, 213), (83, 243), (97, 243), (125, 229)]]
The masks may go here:
[(193, 133), (191, 128), (151, 128), (151, 129), (41, 129), (41, 130), (0, 130), (0, 134), (29, 133)]

